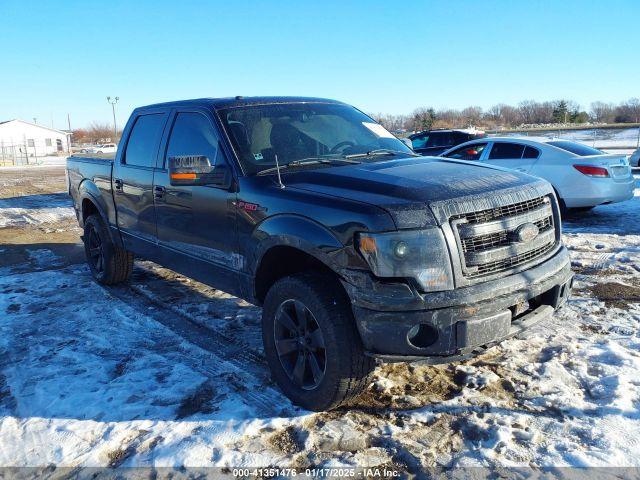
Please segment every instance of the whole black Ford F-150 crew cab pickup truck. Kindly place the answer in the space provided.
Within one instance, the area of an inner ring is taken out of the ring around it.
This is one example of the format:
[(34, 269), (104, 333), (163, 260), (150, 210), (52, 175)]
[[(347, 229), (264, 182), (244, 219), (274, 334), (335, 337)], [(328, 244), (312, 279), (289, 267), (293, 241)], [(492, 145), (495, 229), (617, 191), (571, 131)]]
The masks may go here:
[(263, 306), (272, 375), (312, 410), (378, 361), (478, 354), (571, 290), (549, 183), (421, 157), (341, 102), (142, 107), (115, 159), (67, 169), (98, 282), (126, 281), (135, 255)]

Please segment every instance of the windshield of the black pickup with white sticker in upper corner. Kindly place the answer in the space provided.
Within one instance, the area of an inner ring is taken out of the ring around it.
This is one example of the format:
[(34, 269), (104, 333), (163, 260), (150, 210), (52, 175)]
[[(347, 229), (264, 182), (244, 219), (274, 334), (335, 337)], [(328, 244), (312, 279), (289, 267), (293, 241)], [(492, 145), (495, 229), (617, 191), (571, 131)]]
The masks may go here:
[(356, 158), (376, 161), (385, 156), (414, 155), (384, 127), (344, 104), (253, 105), (222, 109), (219, 113), (238, 158), (250, 175), (267, 173), (276, 166), (276, 158), (280, 167), (306, 164), (318, 168), (334, 163), (348, 165)]

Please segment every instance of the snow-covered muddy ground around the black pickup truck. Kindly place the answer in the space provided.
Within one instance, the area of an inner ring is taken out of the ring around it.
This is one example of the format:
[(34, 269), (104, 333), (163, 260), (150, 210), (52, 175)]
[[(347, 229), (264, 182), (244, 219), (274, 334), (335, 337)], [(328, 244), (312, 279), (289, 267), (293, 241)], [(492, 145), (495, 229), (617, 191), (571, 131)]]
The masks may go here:
[[(30, 197), (0, 203), (3, 225), (74, 221)], [(271, 382), (259, 309), (150, 262), (105, 288), (25, 244), (30, 263), (0, 271), (0, 465), (640, 466), (639, 212), (567, 219), (575, 295), (527, 338), (379, 367), (318, 414)]]

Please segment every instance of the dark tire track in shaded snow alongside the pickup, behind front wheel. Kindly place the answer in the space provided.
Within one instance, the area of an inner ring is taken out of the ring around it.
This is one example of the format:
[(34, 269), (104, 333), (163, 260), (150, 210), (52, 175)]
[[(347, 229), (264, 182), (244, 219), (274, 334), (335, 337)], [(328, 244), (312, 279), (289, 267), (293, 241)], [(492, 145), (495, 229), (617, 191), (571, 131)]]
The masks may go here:
[[(198, 347), (193, 350), (193, 357), (184, 359), (195, 371), (209, 379), (216, 379), (224, 371), (216, 368), (216, 365), (226, 364), (238, 374), (237, 384), (234, 381), (227, 383), (260, 412), (277, 416), (282, 415), (283, 409), (293, 408), (284, 395), (267, 384), (270, 382), (270, 374), (264, 357), (247, 345), (203, 326), (178, 308), (148, 296), (143, 289), (135, 285), (105, 288), (110, 295), (141, 315), (163, 325), (183, 340)], [(203, 355), (197, 350), (203, 350), (209, 355)], [(194, 358), (196, 355), (199, 358)]]

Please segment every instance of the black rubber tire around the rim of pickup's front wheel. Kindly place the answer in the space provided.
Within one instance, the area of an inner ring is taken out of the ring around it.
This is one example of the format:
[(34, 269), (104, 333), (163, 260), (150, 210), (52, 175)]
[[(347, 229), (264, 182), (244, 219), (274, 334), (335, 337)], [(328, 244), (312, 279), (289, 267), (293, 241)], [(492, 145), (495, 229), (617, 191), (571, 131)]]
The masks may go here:
[[(322, 381), (311, 390), (290, 379), (275, 345), (276, 313), (289, 300), (309, 309), (324, 336), (326, 369)], [(273, 379), (294, 404), (305, 409), (337, 408), (356, 398), (371, 381), (375, 361), (364, 353), (350, 302), (335, 277), (303, 273), (278, 280), (264, 302), (262, 339)]]

